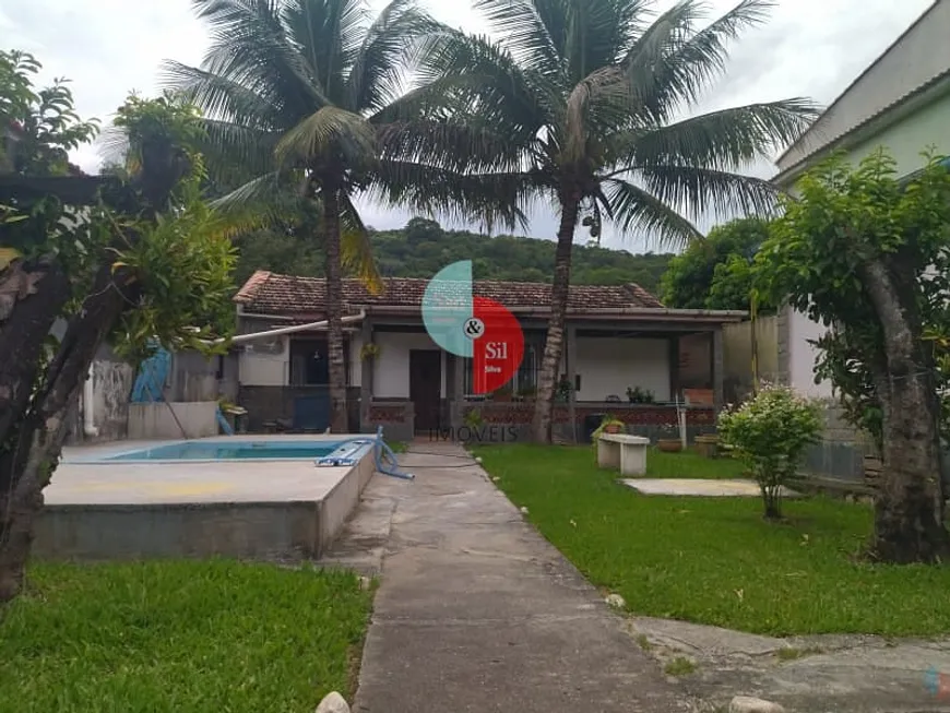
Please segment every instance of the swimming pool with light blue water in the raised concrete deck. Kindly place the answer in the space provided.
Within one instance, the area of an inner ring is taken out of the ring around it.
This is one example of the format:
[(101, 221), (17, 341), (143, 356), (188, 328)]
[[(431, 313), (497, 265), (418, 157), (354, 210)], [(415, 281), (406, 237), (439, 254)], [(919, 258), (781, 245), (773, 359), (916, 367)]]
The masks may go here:
[[(318, 460), (326, 465), (349, 465), (372, 444), (357, 441), (179, 441), (100, 456), (106, 462), (156, 461), (285, 461)], [(326, 462), (330, 461), (330, 462)]]

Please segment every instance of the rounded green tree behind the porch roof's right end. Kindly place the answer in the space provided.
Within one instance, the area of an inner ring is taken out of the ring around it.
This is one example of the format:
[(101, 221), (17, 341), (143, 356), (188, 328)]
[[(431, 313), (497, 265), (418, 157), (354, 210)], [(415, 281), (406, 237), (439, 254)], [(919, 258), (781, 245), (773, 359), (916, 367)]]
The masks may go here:
[(749, 309), (750, 266), (768, 236), (768, 222), (758, 217), (717, 225), (670, 260), (663, 302), (680, 309)]

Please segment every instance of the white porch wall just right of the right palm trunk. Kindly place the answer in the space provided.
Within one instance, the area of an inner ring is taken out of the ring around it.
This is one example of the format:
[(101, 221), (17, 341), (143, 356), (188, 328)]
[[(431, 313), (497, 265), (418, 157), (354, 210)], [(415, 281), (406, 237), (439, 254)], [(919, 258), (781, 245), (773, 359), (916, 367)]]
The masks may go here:
[(627, 387), (649, 389), (657, 401), (668, 401), (669, 342), (614, 337), (580, 337), (577, 373), (578, 401), (604, 401), (616, 394), (627, 400)]

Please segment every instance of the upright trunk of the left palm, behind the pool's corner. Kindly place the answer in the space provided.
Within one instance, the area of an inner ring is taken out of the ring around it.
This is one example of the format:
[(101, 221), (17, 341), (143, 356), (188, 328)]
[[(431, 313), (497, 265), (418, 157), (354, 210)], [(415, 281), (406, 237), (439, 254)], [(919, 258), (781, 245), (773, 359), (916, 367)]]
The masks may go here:
[(326, 320), (330, 350), (330, 428), (347, 431), (346, 361), (343, 356), (343, 282), (340, 268), (340, 193), (323, 185), (323, 230), (326, 251)]

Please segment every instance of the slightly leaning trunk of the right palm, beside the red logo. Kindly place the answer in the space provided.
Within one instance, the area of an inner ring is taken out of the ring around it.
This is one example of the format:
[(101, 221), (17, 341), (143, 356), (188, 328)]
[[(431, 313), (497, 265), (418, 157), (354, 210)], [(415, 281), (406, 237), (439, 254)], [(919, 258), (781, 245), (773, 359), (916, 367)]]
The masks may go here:
[(555, 275), (550, 293), (550, 318), (544, 344), (544, 357), (537, 381), (534, 402), (532, 435), (538, 443), (551, 440), (551, 413), (555, 385), (560, 373), (561, 354), (565, 345), (565, 317), (568, 308), (568, 289), (571, 282), (571, 247), (578, 225), (580, 200), (571, 194), (561, 199), (561, 224), (558, 228), (558, 247), (555, 253)]

